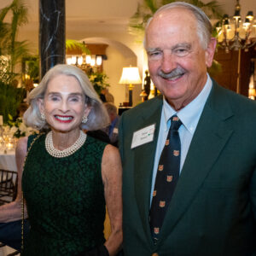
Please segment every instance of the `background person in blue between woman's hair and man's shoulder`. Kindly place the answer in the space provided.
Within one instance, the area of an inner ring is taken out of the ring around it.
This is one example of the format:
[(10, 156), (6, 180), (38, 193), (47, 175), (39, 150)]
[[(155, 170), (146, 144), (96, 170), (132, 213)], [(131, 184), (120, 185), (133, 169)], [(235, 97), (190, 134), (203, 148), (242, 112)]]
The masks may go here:
[(119, 140), (118, 127), (119, 127), (119, 119), (120, 118), (117, 113), (117, 108), (111, 102), (104, 103), (104, 106), (108, 111), (110, 125), (108, 125), (108, 127), (104, 128), (103, 131), (105, 131), (108, 134), (110, 143), (112, 143), (114, 146), (118, 146), (118, 140)]

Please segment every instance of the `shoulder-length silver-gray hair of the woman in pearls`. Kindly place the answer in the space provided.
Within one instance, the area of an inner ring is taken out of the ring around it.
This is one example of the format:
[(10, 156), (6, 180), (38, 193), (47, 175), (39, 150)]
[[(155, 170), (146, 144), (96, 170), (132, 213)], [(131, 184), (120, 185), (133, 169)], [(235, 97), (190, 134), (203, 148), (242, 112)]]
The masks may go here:
[(49, 81), (61, 74), (72, 76), (79, 81), (79, 84), (84, 92), (84, 102), (87, 107), (90, 108), (88, 121), (86, 124), (81, 124), (80, 127), (88, 131), (99, 130), (106, 127), (109, 124), (107, 110), (99, 96), (96, 94), (96, 91), (90, 83), (87, 75), (79, 67), (73, 67), (66, 64), (59, 64), (49, 69), (38, 87), (34, 88), (30, 92), (28, 96), (28, 103), (30, 104), (30, 107), (24, 113), (26, 125), (38, 130), (49, 127), (45, 120), (41, 118), (41, 113), (38, 108), (38, 99), (44, 99), (44, 94), (47, 90)]

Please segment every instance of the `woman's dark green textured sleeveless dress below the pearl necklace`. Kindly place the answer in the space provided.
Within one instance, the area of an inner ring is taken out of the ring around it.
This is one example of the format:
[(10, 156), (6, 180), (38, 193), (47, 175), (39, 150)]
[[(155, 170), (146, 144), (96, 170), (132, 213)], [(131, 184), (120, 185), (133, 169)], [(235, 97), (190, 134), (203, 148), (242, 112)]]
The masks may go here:
[(87, 136), (74, 154), (55, 158), (45, 149), (45, 137), (32, 143), (22, 175), (31, 224), (22, 255), (68, 256), (89, 251), (105, 241), (101, 163), (107, 144)]

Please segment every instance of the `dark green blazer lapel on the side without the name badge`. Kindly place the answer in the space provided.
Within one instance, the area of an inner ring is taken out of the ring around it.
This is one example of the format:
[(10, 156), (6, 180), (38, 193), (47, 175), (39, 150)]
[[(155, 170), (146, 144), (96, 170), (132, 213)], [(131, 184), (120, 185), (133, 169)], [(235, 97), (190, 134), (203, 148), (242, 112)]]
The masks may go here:
[(189, 208), (233, 132), (225, 122), (233, 113), (226, 97), (221, 94), (222, 90), (213, 83), (212, 92), (201, 114), (175, 193), (166, 212), (160, 242)]

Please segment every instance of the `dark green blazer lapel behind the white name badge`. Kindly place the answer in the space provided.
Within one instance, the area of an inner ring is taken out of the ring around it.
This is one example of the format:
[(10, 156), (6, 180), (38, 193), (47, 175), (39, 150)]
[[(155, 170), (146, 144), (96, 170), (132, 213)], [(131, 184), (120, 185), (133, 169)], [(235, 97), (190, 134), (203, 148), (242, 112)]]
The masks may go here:
[(143, 228), (148, 236), (148, 241), (151, 243), (151, 246), (153, 246), (153, 241), (149, 229), (148, 214), (154, 167), (154, 154), (160, 128), (161, 109), (162, 101), (160, 101), (156, 108), (151, 108), (151, 111), (149, 110), (148, 112), (147, 109), (147, 113), (142, 117), (143, 122), (141, 122), (140, 127), (137, 129), (143, 129), (148, 125), (155, 124), (154, 140), (151, 143), (145, 143), (132, 149), (134, 150), (134, 184), (137, 206), (142, 218)]

